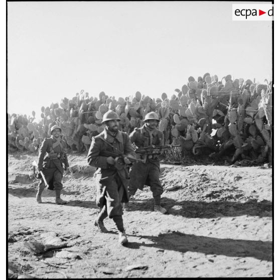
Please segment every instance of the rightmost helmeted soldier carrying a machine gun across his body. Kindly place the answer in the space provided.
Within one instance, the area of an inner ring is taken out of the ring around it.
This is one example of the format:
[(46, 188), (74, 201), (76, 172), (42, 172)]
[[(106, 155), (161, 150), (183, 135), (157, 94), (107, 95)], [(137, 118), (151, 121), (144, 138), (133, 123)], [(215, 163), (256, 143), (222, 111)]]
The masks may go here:
[[(145, 124), (140, 128), (134, 128), (129, 138), (132, 145), (141, 149), (148, 146), (164, 145), (164, 134), (157, 129), (159, 117), (157, 113), (150, 112), (144, 118)], [(150, 186), (154, 197), (154, 211), (165, 214), (167, 210), (161, 206), (163, 187), (160, 182), (160, 160), (157, 155), (148, 156), (147, 162), (133, 164), (129, 174), (129, 197), (132, 197), (137, 189), (143, 190), (144, 185)], [(128, 210), (128, 203), (124, 204), (124, 210)]]

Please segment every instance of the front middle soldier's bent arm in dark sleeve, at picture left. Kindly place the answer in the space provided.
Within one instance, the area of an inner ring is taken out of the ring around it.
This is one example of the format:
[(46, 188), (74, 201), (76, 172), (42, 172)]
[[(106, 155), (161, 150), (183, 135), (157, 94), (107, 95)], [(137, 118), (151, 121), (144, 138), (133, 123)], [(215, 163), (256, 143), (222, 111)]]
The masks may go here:
[(90, 166), (107, 169), (107, 157), (99, 156), (102, 145), (104, 145), (104, 142), (102, 142), (102, 140), (94, 139), (94, 137), (92, 137), (90, 148), (87, 154), (87, 162)]

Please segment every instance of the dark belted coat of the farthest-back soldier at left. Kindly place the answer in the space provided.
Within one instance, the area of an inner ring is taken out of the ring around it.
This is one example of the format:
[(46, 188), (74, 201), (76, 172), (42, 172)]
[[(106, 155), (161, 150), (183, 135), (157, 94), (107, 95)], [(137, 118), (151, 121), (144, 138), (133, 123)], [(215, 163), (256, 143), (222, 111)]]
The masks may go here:
[[(50, 190), (62, 190), (62, 175), (64, 171), (64, 167), (69, 167), (68, 159), (66, 155), (67, 145), (64, 140), (61, 139), (60, 143), (62, 144), (62, 149), (58, 145), (53, 148), (53, 144), (56, 141), (54, 139), (45, 138), (42, 145), (39, 149), (39, 156), (38, 156), (38, 168), (43, 169), (43, 174), (45, 179), (49, 185)], [(47, 153), (55, 153), (60, 154), (60, 158), (51, 160)], [(39, 188), (44, 188), (45, 183), (43, 179), (39, 182)]]

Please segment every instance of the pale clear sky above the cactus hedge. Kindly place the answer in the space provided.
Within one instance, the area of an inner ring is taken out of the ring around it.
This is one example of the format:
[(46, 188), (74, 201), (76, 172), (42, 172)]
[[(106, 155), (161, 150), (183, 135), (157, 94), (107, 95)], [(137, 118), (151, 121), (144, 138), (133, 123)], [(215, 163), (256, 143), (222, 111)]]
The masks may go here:
[(270, 80), (271, 22), (232, 21), (234, 3), (8, 2), (8, 112), (82, 89), (170, 97), (206, 72)]

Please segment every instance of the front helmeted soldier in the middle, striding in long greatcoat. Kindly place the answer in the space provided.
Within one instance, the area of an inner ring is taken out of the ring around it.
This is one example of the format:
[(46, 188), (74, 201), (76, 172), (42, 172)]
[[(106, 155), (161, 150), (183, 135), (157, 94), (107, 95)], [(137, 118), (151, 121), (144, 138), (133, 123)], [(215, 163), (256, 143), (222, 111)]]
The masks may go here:
[[(103, 220), (106, 217), (113, 219), (118, 233), (119, 243), (128, 242), (122, 220), (122, 204), (128, 202), (128, 181), (129, 164), (126, 156), (135, 158), (135, 153), (128, 135), (118, 130), (119, 117), (112, 110), (103, 115), (102, 123), (105, 129), (95, 137), (87, 155), (87, 162), (93, 167), (97, 167), (94, 174), (97, 184), (96, 204), (100, 209), (94, 225), (101, 232), (108, 232)], [(122, 157), (109, 156), (110, 153), (123, 155)]]

